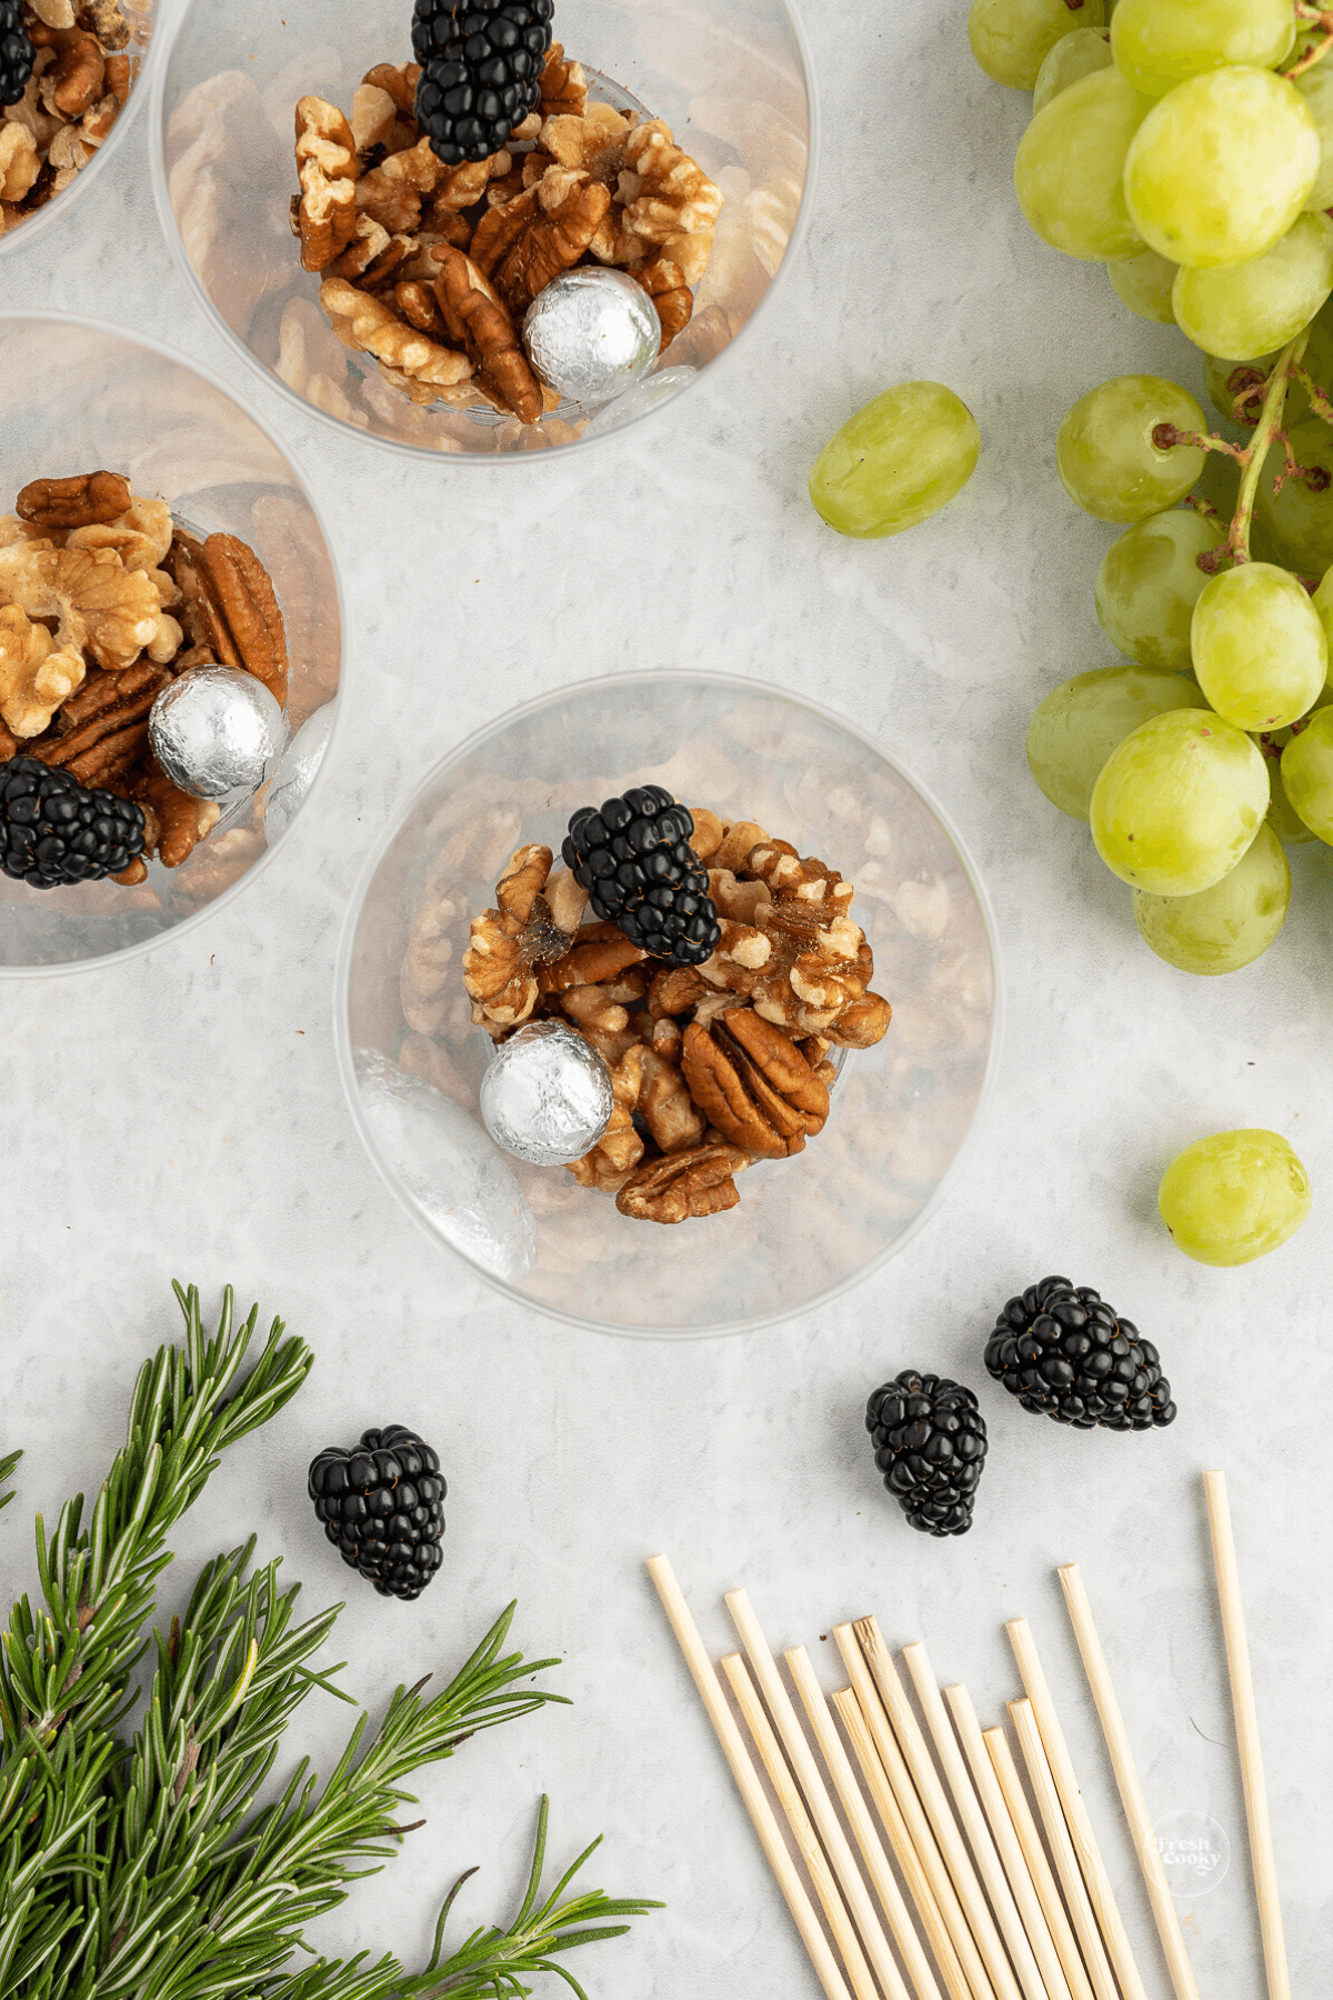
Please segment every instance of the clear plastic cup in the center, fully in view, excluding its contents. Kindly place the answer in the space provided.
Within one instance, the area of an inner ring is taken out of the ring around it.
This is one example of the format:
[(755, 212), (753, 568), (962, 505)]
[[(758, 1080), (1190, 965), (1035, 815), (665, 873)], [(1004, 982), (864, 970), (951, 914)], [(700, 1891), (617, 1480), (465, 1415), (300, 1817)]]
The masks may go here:
[[(492, 1044), (462, 986), (470, 920), (518, 846), (558, 854), (578, 806), (630, 784), (757, 820), (853, 880), (893, 1004), (883, 1042), (845, 1052), (823, 1132), (743, 1172), (731, 1212), (677, 1226), (502, 1156), (476, 1116)], [(997, 1062), (993, 920), (943, 812), (849, 722), (753, 680), (626, 674), (530, 702), (430, 774), (352, 898), (336, 1036), (378, 1172), (508, 1298), (600, 1332), (745, 1332), (837, 1296), (943, 1200)]]

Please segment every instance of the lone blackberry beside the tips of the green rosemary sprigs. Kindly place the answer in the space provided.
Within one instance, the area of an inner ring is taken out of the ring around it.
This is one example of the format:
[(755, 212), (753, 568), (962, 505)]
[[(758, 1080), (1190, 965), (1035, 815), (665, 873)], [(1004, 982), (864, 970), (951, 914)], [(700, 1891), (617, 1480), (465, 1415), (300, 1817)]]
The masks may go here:
[(420, 1598), (444, 1562), (440, 1460), (416, 1430), (364, 1430), (352, 1450), (330, 1444), (310, 1466), (324, 1532), (382, 1598)]

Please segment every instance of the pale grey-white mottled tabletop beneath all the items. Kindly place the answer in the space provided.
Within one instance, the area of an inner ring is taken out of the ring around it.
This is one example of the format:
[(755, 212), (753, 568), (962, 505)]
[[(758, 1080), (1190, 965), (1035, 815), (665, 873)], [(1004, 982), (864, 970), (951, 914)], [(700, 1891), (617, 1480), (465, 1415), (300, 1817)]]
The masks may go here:
[[(406, 6), (402, 8), (406, 12)], [(96, 1480), (168, 1278), (234, 1280), (318, 1350), (302, 1398), (214, 1480), (186, 1570), (254, 1524), (318, 1602), (344, 1592), (304, 1464), (362, 1424), (434, 1438), (446, 1566), (416, 1606), (354, 1584), (334, 1658), (370, 1702), (450, 1668), (518, 1596), (518, 1636), (560, 1652), (576, 1698), (468, 1744), (422, 1786), (430, 1826), (322, 1936), (426, 1956), (428, 1908), (480, 1862), (464, 1920), (514, 1892), (534, 1800), (558, 1854), (604, 1830), (592, 1878), (667, 1900), (588, 1952), (590, 1994), (813, 1996), (731, 1782), (644, 1578), (667, 1548), (709, 1646), (745, 1580), (773, 1644), (837, 1684), (833, 1620), (875, 1608), (925, 1636), (985, 1720), (1017, 1692), (1001, 1620), (1027, 1612), (1153, 2000), (1167, 1994), (1063, 1622), (1077, 1556), (1155, 1814), (1209, 1810), (1233, 1842), (1187, 1914), (1205, 2000), (1259, 2000), (1241, 1796), (1199, 1470), (1225, 1466), (1251, 1616), (1295, 1992), (1333, 1986), (1333, 1788), (1323, 1580), (1333, 1392), (1327, 1036), (1329, 854), (1297, 856), (1269, 956), (1191, 982), (1139, 944), (1127, 892), (1033, 790), (1041, 692), (1109, 662), (1091, 580), (1109, 530), (1063, 498), (1059, 414), (1125, 368), (1197, 386), (1197, 358), (1133, 320), (1097, 268), (1021, 224), (1009, 168), (1027, 104), (973, 68), (961, 6), (809, 10), (823, 174), (809, 242), (747, 352), (656, 428), (532, 464), (526, 480), (420, 468), (344, 442), (260, 388), (210, 332), (154, 216), (140, 118), (118, 172), (60, 236), (2, 266), (4, 302), (102, 314), (206, 360), (314, 478), (350, 584), (352, 730), (262, 884), (188, 940), (94, 978), (0, 988), (6, 1088), (2, 1442), (28, 1460), (0, 1522), (28, 1588), (30, 1516)], [(827, 432), (881, 386), (933, 376), (979, 416), (965, 494), (909, 536), (851, 544), (805, 498)], [(0, 408), (2, 408), (0, 388)], [(863, 718), (949, 804), (997, 904), (1009, 1038), (989, 1126), (907, 1254), (817, 1318), (729, 1344), (628, 1344), (500, 1304), (434, 1250), (374, 1176), (334, 1074), (340, 916), (386, 818), (500, 706), (590, 672), (715, 662)], [(1275, 1126), (1315, 1210), (1241, 1272), (1187, 1264), (1155, 1220), (1167, 1158), (1205, 1130)], [(1067, 1434), (985, 1382), (1003, 1298), (1047, 1270), (1101, 1286), (1161, 1346), (1181, 1418), (1163, 1436)], [(865, 1392), (901, 1366), (977, 1384), (991, 1462), (973, 1532), (913, 1536), (877, 1486)], [(326, 1760), (342, 1712), (312, 1704)], [(554, 1990), (554, 1986), (552, 1986)]]

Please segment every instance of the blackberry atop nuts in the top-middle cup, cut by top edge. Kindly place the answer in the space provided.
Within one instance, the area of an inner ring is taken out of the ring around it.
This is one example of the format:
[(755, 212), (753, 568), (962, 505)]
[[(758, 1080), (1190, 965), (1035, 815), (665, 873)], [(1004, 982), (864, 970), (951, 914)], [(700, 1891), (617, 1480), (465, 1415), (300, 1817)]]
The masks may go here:
[(488, 160), (538, 104), (554, 0), (416, 0), (416, 118), (438, 160)]

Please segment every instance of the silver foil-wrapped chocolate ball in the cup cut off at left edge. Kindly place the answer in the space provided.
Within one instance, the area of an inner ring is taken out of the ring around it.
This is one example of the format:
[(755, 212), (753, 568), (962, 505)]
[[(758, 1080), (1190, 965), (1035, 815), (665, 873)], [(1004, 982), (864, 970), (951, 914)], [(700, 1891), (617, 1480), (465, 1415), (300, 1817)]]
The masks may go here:
[(194, 798), (256, 792), (288, 726), (262, 680), (236, 666), (196, 666), (162, 690), (148, 716), (158, 764)]

